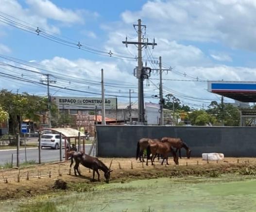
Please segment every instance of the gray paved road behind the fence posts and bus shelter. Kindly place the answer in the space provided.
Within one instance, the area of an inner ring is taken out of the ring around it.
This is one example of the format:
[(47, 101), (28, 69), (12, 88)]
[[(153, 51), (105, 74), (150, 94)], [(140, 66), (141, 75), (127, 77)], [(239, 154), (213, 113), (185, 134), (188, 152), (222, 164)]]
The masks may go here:
[[(90, 150), (91, 145), (86, 144), (85, 145), (85, 153), (88, 153)], [(83, 147), (81, 146), (81, 149)], [(0, 150), (0, 165), (11, 162), (12, 160), (12, 154), (13, 154), (13, 165), (16, 166), (17, 162), (17, 150)], [(62, 149), (62, 155), (64, 155), (64, 149)], [(92, 151), (93, 156), (95, 156), (95, 148)], [(63, 158), (64, 159), (64, 158)], [(27, 149), (27, 161), (34, 160), (38, 163), (38, 148), (29, 148)], [(53, 161), (59, 161), (60, 160), (60, 150), (59, 149), (50, 149), (50, 148), (43, 148), (41, 150), (41, 162), (53, 162)], [(19, 161), (20, 163), (25, 162), (25, 150), (20, 149), (19, 151)]]

